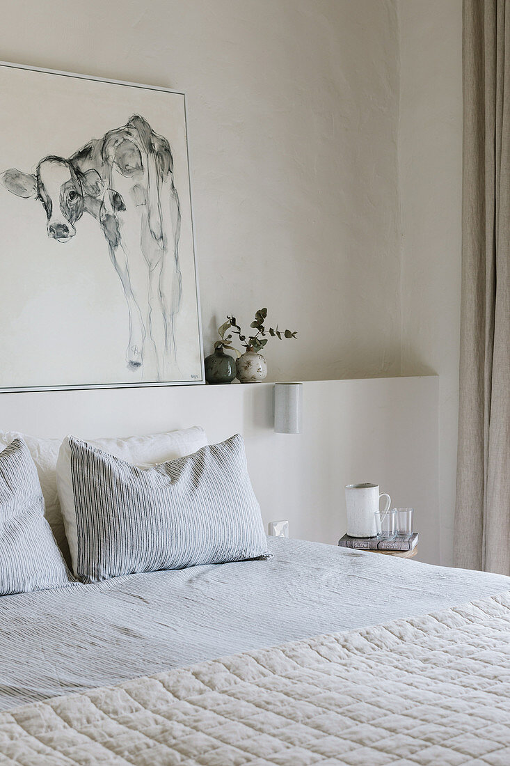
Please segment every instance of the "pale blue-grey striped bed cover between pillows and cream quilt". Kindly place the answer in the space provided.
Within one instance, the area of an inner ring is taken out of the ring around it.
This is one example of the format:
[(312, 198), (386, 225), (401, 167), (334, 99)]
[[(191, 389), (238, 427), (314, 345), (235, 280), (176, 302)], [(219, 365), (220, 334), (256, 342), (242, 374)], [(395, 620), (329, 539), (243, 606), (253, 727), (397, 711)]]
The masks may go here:
[(510, 589), (500, 575), (297, 540), (269, 545), (271, 561), (0, 597), (0, 708)]

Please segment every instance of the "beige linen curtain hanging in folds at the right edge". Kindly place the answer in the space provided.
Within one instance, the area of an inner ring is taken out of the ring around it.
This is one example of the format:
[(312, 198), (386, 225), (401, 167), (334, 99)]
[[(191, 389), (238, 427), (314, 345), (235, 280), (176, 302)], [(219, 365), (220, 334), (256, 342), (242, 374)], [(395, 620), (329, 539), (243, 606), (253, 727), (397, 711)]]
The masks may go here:
[(510, 0), (464, 0), (455, 563), (510, 575)]

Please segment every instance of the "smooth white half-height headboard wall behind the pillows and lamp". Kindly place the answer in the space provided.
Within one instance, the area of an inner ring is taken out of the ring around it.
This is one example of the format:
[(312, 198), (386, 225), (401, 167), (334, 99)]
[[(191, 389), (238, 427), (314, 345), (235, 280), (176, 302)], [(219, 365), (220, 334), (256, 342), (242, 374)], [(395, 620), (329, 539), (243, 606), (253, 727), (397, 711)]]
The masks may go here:
[(201, 425), (244, 435), (264, 521), (335, 544), (346, 483), (379, 483), (414, 506), (418, 558), (439, 563), (438, 378), (309, 381), (302, 434), (273, 431), (273, 385), (169, 386), (0, 394), (0, 429), (40, 437), (151, 434)]

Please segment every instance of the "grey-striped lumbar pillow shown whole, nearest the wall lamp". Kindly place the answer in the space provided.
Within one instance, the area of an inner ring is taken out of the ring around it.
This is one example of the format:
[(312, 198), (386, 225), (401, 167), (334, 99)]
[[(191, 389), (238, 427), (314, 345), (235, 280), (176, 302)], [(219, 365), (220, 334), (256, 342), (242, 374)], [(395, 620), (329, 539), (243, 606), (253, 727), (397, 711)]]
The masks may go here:
[(67, 437), (57, 483), (64, 460), (73, 499), (60, 495), (60, 506), (83, 582), (270, 558), (239, 435), (144, 468)]

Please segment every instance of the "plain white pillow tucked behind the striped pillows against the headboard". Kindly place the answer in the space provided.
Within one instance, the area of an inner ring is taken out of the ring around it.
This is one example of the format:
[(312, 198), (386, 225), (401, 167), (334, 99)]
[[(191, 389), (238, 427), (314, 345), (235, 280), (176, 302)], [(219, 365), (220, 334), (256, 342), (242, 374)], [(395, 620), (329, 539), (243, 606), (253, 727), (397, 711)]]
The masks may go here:
[[(57, 457), (61, 439), (39, 439), (19, 434), (17, 431), (0, 431), (0, 450), (15, 439), (25, 441), (38, 470), (39, 482), (44, 497), (44, 516), (51, 526), (57, 545), (70, 564), (64, 519), (60, 512), (57, 495)], [(175, 457), (191, 455), (208, 444), (203, 428), (194, 426), (165, 434), (132, 436), (126, 439), (95, 439), (89, 444), (135, 465), (143, 463), (164, 463)]]

